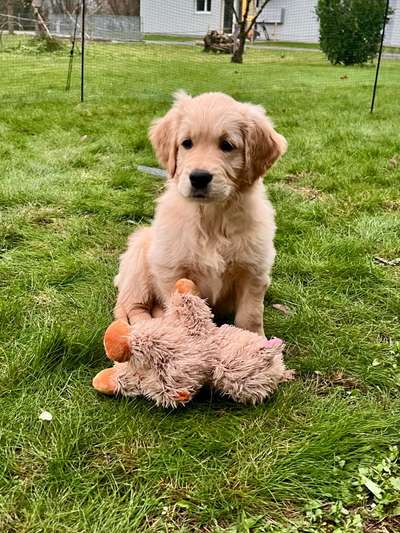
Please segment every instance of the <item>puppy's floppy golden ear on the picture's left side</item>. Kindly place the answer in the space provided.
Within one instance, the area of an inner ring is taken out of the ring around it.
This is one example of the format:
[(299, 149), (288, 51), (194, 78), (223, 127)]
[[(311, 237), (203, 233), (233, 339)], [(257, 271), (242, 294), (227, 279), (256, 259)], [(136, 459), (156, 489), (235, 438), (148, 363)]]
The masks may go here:
[(176, 156), (178, 152), (177, 131), (185, 102), (191, 96), (184, 91), (174, 94), (175, 103), (168, 113), (155, 120), (149, 130), (149, 138), (156, 152), (157, 159), (167, 169), (171, 178), (176, 171)]

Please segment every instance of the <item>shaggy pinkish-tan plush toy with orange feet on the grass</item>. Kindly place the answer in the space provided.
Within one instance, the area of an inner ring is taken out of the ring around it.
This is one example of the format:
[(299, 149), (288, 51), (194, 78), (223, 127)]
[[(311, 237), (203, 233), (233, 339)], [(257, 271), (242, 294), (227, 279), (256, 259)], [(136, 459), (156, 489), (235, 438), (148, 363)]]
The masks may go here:
[(162, 317), (132, 326), (117, 320), (109, 326), (104, 347), (115, 365), (97, 374), (94, 388), (177, 407), (208, 383), (235, 401), (256, 404), (292, 379), (281, 339), (217, 327), (212, 318), (196, 286), (179, 280)]

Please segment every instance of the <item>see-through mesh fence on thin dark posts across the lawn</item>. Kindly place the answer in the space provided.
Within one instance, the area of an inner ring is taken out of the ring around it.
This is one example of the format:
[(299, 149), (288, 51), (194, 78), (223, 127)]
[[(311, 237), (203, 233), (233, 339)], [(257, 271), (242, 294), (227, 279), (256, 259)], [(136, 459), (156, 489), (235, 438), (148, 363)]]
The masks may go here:
[[(305, 72), (317, 65), (313, 87), (321, 96), (332, 84), (372, 92), (376, 60), (332, 66), (319, 49), (317, 0), (270, 0), (248, 36), (241, 65), (232, 64), (229, 54), (203, 52), (210, 30), (235, 35), (238, 0), (33, 0), (23, 9), (15, 0), (12, 13), (10, 4), (0, 0), (2, 103), (167, 97), (179, 88), (219, 90), (221, 77), (236, 95), (245, 96), (249, 86), (260, 92), (281, 86), (289, 95), (309, 90)], [(253, 14), (260, 4), (254, 0)], [(400, 89), (400, 0), (390, 5), (379, 83)], [(207, 79), (197, 79), (200, 64), (207, 64)]]

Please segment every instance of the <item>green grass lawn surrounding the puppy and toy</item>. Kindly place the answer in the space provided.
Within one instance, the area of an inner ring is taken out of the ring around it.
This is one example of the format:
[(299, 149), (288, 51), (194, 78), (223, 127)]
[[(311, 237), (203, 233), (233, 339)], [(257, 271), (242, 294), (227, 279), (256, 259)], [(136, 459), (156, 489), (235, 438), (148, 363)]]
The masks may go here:
[[(400, 266), (376, 259), (400, 257), (399, 63), (373, 115), (374, 69), (315, 52), (92, 45), (84, 104), (78, 63), (65, 95), (67, 55), (0, 53), (0, 530), (399, 531)], [(118, 255), (163, 187), (136, 165), (177, 88), (263, 104), (289, 141), (265, 178), (265, 327), (298, 377), (257, 407), (90, 386)]]

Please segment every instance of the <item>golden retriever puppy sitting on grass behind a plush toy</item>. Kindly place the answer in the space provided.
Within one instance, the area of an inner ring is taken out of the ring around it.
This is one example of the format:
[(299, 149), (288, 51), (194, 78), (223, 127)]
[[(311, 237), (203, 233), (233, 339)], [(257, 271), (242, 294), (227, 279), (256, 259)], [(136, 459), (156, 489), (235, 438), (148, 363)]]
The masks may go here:
[(262, 178), (286, 140), (261, 106), (183, 92), (150, 140), (168, 181), (152, 226), (131, 235), (121, 256), (115, 317), (156, 316), (189, 278), (217, 316), (233, 313), (236, 326), (263, 334), (275, 222)]

